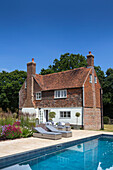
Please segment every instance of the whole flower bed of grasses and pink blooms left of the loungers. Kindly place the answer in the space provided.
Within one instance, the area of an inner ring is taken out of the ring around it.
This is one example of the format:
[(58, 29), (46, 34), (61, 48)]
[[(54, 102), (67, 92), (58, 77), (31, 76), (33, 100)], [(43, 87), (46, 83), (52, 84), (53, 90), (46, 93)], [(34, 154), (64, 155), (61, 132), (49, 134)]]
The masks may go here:
[(11, 113), (0, 113), (0, 140), (30, 137), (33, 135), (35, 115), (20, 115), (19, 119)]

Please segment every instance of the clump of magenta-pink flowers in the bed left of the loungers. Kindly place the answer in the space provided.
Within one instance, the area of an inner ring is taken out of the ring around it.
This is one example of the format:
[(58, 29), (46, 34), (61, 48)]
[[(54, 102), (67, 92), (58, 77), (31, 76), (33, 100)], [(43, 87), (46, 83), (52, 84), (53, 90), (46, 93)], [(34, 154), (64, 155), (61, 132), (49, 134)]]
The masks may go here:
[(15, 139), (21, 137), (21, 129), (20, 127), (16, 127), (14, 125), (5, 125), (2, 128), (2, 136), (6, 139)]

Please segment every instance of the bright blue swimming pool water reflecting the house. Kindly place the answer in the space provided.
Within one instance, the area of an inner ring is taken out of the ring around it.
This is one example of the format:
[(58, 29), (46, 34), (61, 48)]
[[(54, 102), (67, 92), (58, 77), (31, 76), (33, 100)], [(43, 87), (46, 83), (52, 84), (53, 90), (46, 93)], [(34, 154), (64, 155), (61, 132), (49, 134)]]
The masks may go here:
[(113, 170), (113, 139), (94, 139), (5, 169)]

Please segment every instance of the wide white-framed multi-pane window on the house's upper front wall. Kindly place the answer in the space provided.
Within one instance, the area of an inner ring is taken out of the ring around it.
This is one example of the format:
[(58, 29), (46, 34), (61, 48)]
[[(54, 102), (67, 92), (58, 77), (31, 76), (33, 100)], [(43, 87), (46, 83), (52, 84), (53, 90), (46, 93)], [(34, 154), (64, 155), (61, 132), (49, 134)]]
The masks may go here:
[(67, 90), (54, 91), (54, 98), (66, 98), (66, 97), (67, 97)]

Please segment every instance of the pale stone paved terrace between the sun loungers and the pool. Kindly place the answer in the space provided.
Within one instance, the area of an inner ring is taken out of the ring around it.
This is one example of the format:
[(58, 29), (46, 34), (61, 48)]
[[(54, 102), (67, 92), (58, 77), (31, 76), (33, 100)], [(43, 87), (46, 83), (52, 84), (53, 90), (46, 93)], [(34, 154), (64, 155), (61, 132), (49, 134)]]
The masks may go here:
[(89, 130), (72, 130), (72, 137), (62, 138), (60, 140), (49, 140), (41, 138), (21, 138), (15, 140), (7, 140), (0, 142), (0, 157), (30, 151), (33, 149), (43, 148), (55, 144), (60, 144), (64, 142), (73, 141), (76, 139), (82, 139), (99, 134), (111, 134), (112, 132), (103, 132), (103, 131), (89, 131)]

